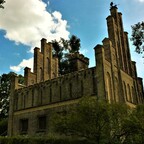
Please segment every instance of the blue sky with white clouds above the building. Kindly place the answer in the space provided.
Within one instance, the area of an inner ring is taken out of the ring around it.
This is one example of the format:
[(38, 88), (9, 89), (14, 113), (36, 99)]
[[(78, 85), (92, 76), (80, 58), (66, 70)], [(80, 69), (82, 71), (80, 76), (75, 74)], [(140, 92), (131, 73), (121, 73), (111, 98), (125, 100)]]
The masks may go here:
[[(23, 74), (33, 65), (33, 48), (41, 38), (48, 41), (81, 39), (81, 52), (95, 65), (93, 48), (108, 36), (106, 17), (111, 0), (6, 0), (0, 9), (0, 74)], [(124, 29), (131, 35), (131, 25), (144, 21), (144, 0), (113, 0), (123, 14)], [(130, 43), (131, 45), (131, 43)], [(134, 52), (138, 76), (144, 78), (144, 59)]]

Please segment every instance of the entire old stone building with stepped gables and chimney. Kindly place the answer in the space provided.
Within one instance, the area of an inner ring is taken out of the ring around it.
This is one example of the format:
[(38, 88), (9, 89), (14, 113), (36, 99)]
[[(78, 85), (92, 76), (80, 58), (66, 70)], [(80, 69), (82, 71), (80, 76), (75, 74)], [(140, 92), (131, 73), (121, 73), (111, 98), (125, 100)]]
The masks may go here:
[(58, 59), (52, 45), (41, 40), (41, 50), (34, 49), (34, 70), (25, 68), (26, 85), (13, 77), (10, 95), (9, 136), (48, 133), (50, 115), (76, 103), (83, 96), (131, 107), (144, 103), (142, 79), (137, 77), (136, 63), (131, 61), (127, 32), (122, 14), (116, 6), (106, 18), (108, 38), (94, 48), (96, 66), (88, 68), (89, 59), (75, 53), (74, 72), (58, 75)]

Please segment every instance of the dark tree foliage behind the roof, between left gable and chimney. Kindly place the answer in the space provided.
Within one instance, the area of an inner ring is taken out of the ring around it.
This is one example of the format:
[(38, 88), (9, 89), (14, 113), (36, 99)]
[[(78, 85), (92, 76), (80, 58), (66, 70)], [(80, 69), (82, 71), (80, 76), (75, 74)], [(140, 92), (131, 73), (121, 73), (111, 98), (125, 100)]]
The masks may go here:
[(63, 75), (71, 71), (70, 54), (80, 49), (80, 39), (72, 35), (69, 40), (63, 38), (60, 41), (53, 40), (53, 56), (58, 58), (59, 74)]

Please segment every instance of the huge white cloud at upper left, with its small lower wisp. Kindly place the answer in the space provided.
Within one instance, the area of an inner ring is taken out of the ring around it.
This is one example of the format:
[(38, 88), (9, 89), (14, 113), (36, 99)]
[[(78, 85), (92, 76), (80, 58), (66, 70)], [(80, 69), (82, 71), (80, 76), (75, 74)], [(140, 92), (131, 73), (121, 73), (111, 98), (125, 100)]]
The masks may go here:
[[(62, 19), (60, 12), (49, 13), (46, 7), (41, 0), (7, 0), (5, 9), (0, 12), (0, 29), (5, 30), (7, 39), (30, 46), (31, 52), (34, 47), (39, 47), (43, 37), (48, 41), (60, 37), (68, 39), (67, 21)], [(20, 71), (24, 61), (11, 69)]]

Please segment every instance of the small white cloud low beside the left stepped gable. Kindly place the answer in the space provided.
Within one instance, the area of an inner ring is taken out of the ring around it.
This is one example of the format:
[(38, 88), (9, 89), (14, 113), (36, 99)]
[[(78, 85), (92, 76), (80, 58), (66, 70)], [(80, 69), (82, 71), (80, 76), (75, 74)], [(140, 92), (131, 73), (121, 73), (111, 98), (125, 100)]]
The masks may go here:
[(33, 58), (30, 58), (28, 60), (23, 59), (23, 61), (17, 65), (17, 66), (10, 66), (10, 69), (15, 72), (20, 72), (24, 67), (29, 67), (31, 70), (33, 70)]

